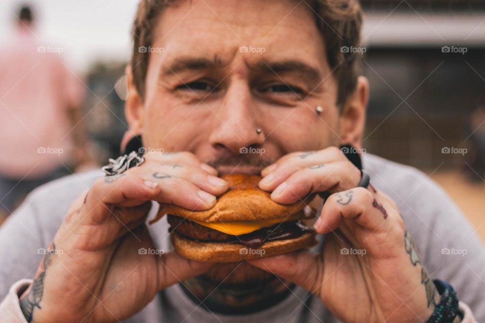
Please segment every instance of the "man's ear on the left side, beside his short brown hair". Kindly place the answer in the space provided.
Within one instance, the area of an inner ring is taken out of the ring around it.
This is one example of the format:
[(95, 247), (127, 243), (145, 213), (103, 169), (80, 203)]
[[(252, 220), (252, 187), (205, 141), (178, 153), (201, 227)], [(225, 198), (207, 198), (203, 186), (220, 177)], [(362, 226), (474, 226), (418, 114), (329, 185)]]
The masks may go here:
[(143, 135), (143, 102), (133, 82), (133, 73), (129, 66), (125, 69), (128, 96), (125, 101), (125, 117), (132, 133)]

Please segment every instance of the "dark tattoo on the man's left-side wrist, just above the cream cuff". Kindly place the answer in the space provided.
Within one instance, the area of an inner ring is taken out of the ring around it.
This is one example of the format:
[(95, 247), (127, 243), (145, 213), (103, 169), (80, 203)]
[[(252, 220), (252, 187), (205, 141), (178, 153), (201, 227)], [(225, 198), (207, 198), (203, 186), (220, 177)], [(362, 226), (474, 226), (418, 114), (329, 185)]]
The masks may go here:
[(40, 301), (42, 300), (44, 292), (45, 271), (51, 264), (52, 256), (55, 254), (55, 251), (56, 245), (54, 242), (52, 242), (49, 248), (47, 248), (44, 257), (40, 262), (34, 281), (20, 297), (20, 309), (22, 310), (27, 322), (32, 321), (32, 315), (35, 307), (39, 309), (41, 308)]

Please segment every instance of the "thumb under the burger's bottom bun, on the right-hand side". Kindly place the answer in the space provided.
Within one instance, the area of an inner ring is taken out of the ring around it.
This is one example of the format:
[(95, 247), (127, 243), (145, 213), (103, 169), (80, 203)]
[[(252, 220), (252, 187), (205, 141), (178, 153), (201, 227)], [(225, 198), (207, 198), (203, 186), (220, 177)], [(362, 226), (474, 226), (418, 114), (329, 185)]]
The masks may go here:
[(318, 254), (308, 250), (247, 261), (253, 266), (300, 285), (311, 293), (320, 286), (323, 262)]

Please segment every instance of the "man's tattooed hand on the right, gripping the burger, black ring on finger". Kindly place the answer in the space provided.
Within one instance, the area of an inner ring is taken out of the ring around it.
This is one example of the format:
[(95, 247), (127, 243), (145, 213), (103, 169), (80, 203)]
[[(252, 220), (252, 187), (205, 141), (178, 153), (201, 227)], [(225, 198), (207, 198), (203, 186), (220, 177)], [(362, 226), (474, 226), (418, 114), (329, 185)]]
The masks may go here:
[(319, 254), (305, 250), (250, 263), (312, 292), (344, 322), (429, 318), (439, 295), (396, 203), (372, 185), (355, 188), (360, 171), (340, 150), (292, 153), (262, 175), (260, 187), (280, 203), (310, 191), (333, 194), (315, 223), (317, 233), (327, 234)]

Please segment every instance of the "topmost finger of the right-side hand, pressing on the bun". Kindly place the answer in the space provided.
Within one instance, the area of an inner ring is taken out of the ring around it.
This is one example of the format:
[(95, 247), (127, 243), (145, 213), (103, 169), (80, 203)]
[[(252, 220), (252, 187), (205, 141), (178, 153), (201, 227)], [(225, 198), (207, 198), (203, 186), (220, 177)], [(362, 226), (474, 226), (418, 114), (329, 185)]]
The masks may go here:
[(277, 167), (273, 167), (270, 172), (266, 171), (266, 169), (261, 172), (264, 178), (261, 180), (259, 187), (265, 191), (272, 191), (299, 170), (344, 160), (347, 160), (345, 155), (337, 147), (328, 147), (318, 151), (291, 153), (278, 160)]

